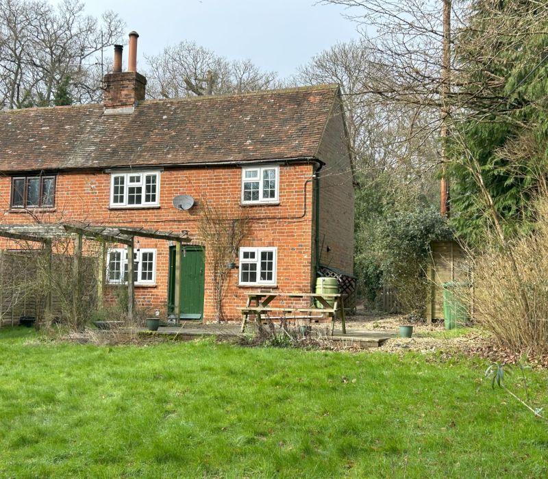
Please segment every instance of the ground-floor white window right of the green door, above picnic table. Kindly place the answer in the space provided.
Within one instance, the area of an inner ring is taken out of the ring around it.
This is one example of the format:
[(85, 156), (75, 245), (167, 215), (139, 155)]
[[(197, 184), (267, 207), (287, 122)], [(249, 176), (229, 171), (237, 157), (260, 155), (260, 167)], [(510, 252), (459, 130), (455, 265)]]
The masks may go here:
[(276, 284), (277, 248), (240, 248), (240, 285)]

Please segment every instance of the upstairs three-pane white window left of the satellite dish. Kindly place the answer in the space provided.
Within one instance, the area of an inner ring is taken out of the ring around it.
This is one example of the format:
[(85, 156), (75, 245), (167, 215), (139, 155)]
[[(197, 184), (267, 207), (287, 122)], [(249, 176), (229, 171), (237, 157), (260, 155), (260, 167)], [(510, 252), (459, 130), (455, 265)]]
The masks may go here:
[(141, 171), (110, 174), (110, 206), (160, 205), (160, 172)]

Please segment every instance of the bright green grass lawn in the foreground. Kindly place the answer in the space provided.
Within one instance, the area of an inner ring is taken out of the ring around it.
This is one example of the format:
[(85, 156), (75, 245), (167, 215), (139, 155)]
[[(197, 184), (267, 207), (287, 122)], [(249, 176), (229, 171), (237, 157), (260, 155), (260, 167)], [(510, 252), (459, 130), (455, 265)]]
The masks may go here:
[(2, 478), (548, 476), (548, 426), (484, 362), (35, 335), (0, 331)]

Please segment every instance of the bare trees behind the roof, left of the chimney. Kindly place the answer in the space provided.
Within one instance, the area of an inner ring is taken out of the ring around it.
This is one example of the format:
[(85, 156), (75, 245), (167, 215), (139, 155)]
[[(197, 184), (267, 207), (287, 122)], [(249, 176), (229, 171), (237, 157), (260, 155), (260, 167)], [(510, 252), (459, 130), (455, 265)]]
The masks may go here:
[(78, 0), (57, 8), (40, 0), (0, 0), (1, 105), (51, 105), (67, 78), (75, 101), (97, 101), (101, 51), (119, 41), (124, 28), (113, 12), (101, 20), (85, 15)]

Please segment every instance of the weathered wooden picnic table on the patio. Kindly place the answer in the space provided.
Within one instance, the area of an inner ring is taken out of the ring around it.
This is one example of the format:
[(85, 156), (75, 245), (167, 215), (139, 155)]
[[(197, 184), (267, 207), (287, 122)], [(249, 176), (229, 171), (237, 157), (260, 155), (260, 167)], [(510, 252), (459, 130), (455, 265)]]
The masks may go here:
[[(308, 307), (270, 307), (271, 302), (277, 298), (294, 298), (294, 299), (308, 299)], [(329, 300), (333, 301), (333, 305), (329, 304)], [(321, 307), (316, 306), (319, 303)], [(245, 331), (245, 325), (249, 320), (249, 316), (253, 315), (256, 318), (256, 322), (261, 321), (261, 316), (269, 315), (269, 313), (279, 313), (281, 315), (295, 315), (295, 313), (308, 313), (306, 318), (310, 324), (310, 318), (312, 313), (319, 313), (322, 317), (327, 315), (331, 318), (331, 335), (334, 333), (335, 321), (337, 313), (340, 313), (340, 321), (343, 323), (343, 334), (347, 333), (345, 324), (345, 300), (343, 294), (331, 294), (331, 293), (263, 293), (263, 292), (250, 292), (247, 293), (247, 304), (244, 308), (240, 308), (242, 311), (242, 328), (241, 332)]]

